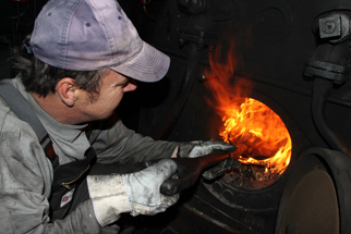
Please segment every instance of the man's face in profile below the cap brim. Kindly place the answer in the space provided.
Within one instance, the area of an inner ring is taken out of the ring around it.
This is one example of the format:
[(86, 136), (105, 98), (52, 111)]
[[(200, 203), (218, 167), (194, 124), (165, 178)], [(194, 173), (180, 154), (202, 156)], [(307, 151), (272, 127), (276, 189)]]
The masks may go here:
[(110, 71), (100, 83), (99, 95), (92, 100), (92, 97), (82, 91), (76, 104), (81, 114), (86, 119), (84, 121), (102, 120), (110, 116), (113, 110), (119, 106), (124, 93), (136, 89), (136, 82), (131, 78)]

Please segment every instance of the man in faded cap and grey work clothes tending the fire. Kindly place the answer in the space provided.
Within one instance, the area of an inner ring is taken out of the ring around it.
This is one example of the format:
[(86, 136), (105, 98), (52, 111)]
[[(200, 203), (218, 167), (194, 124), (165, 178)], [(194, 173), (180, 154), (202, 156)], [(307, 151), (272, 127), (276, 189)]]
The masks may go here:
[[(174, 161), (162, 158), (234, 149), (211, 141), (155, 141), (121, 123), (114, 109), (123, 94), (136, 81), (162, 78), (170, 61), (138, 37), (114, 0), (49, 1), (24, 48), (13, 58), (21, 73), (4, 83), (38, 116), (59, 165), (32, 126), (0, 99), (3, 233), (116, 233), (121, 213), (156, 214), (177, 202), (178, 195), (159, 192), (177, 171)], [(162, 160), (140, 172), (104, 173), (117, 162), (150, 159)]]

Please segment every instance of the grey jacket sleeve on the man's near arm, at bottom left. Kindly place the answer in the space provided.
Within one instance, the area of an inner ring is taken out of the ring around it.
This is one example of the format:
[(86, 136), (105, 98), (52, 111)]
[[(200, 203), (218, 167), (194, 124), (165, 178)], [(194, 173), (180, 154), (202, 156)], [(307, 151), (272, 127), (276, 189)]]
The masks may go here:
[(27, 123), (3, 110), (0, 121), (1, 233), (99, 233), (90, 200), (50, 222), (51, 163)]

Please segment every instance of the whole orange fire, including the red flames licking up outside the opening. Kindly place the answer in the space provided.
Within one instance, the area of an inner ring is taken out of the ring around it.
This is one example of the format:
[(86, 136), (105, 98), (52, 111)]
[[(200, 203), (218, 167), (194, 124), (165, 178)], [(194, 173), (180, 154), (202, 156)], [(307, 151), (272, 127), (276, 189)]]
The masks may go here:
[(206, 86), (215, 97), (209, 102), (222, 116), (219, 135), (223, 141), (238, 147), (235, 157), (242, 163), (264, 167), (264, 173), (281, 174), (291, 157), (289, 132), (278, 114), (250, 98), (252, 83), (239, 79), (231, 84), (238, 66), (234, 45), (228, 50), (225, 63), (219, 62), (222, 59), (220, 51), (217, 47), (215, 54), (209, 56), (211, 70), (206, 71)]

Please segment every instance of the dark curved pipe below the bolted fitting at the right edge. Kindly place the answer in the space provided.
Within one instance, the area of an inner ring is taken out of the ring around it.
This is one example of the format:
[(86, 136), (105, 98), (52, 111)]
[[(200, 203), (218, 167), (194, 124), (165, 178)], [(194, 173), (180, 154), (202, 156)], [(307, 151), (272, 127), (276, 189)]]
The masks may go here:
[(323, 78), (315, 78), (312, 96), (312, 115), (318, 132), (326, 143), (336, 150), (339, 150), (351, 158), (351, 148), (334, 130), (326, 116), (326, 103), (332, 89), (332, 82)]

